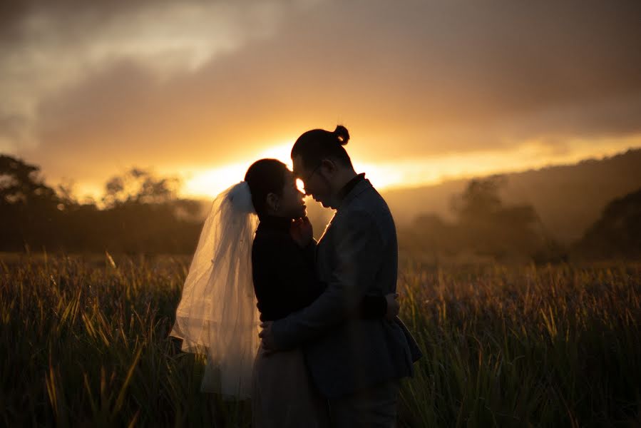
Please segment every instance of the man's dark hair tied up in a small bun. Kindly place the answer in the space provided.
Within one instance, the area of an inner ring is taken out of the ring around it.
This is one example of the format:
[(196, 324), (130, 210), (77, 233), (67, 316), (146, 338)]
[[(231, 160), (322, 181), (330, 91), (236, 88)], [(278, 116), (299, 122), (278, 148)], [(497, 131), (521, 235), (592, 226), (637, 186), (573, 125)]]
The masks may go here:
[(338, 125), (334, 132), (312, 129), (299, 136), (292, 147), (292, 159), (301, 156), (305, 168), (316, 168), (325, 158), (332, 158), (352, 168), (352, 160), (344, 147), (349, 141), (347, 128)]

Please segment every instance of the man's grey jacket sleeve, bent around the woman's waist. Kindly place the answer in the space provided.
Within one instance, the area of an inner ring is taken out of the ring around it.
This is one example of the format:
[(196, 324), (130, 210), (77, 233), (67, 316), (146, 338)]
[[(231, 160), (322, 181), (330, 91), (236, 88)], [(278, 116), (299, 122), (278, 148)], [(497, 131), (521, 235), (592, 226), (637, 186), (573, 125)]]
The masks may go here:
[(279, 349), (297, 347), (359, 313), (365, 292), (374, 282), (383, 252), (383, 239), (371, 215), (349, 213), (334, 223), (336, 265), (327, 288), (311, 305), (272, 325)]

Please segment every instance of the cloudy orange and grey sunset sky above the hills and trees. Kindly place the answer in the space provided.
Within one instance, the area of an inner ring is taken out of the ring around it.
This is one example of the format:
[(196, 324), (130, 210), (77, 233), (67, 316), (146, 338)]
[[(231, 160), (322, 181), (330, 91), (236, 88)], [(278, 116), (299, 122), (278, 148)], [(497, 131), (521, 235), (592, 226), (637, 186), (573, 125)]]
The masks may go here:
[[(0, 153), (213, 195), (342, 123), (379, 187), (641, 146), (641, 2), (0, 3)], [(360, 172), (360, 171), (359, 171)]]

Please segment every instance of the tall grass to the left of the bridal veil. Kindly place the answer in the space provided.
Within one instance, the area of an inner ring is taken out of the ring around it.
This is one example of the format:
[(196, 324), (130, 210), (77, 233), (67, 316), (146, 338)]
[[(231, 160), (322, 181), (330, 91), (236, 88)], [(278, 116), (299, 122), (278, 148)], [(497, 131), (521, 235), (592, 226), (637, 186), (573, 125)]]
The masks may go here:
[(0, 425), (249, 426), (167, 337), (188, 260), (2, 266)]

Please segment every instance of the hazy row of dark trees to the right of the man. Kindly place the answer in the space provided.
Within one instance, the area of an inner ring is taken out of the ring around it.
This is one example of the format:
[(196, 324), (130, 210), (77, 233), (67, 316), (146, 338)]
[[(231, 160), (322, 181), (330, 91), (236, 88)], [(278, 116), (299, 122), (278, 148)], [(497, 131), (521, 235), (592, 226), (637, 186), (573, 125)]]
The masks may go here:
[(419, 215), (399, 230), (401, 249), (435, 260), (461, 254), (535, 263), (641, 258), (641, 188), (612, 200), (582, 238), (563, 245), (532, 205), (503, 203), (499, 190), (505, 184), (503, 175), (471, 180), (451, 201), (455, 220)]

